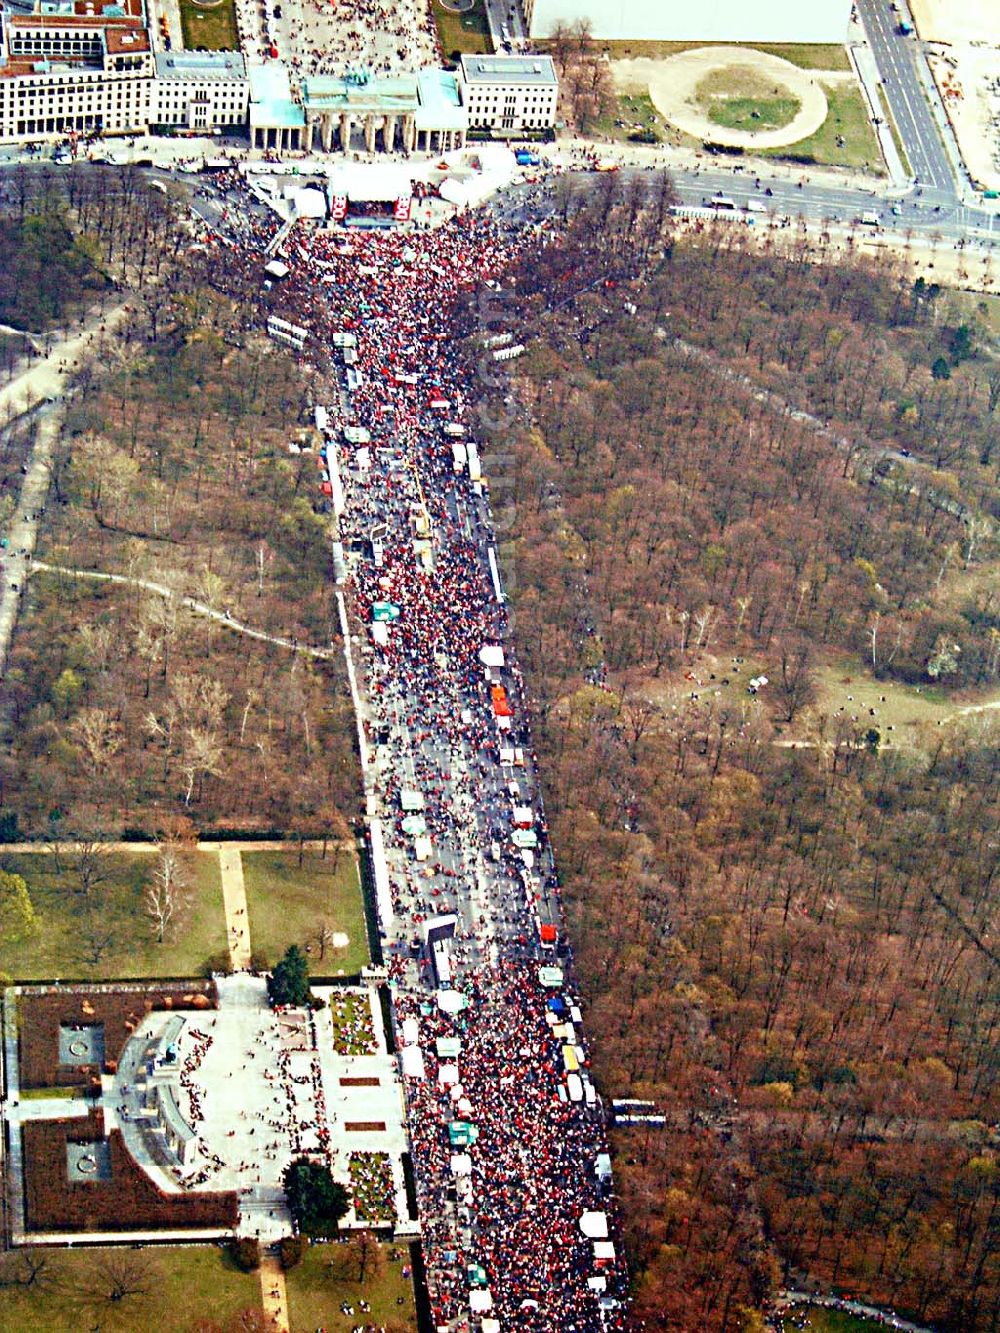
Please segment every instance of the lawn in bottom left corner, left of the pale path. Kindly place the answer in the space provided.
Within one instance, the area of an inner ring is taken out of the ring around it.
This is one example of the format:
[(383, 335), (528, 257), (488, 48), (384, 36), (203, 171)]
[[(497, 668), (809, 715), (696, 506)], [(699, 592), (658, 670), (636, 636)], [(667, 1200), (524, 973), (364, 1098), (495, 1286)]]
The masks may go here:
[[(112, 1302), (101, 1296), (97, 1277), (100, 1265), (116, 1257), (135, 1265), (147, 1290)], [(4, 1262), (16, 1258), (11, 1254)], [(0, 1333), (95, 1326), (105, 1333), (140, 1328), (187, 1333), (200, 1320), (229, 1328), (248, 1309), (260, 1309), (260, 1280), (256, 1273), (240, 1273), (228, 1250), (216, 1245), (53, 1249), (39, 1285), (4, 1288)]]

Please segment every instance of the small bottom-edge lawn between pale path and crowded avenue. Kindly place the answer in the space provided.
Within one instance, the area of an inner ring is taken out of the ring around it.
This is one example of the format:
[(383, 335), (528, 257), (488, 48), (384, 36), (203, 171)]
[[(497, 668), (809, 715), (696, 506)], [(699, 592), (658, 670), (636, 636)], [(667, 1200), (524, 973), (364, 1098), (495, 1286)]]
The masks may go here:
[[(391, 1320), (415, 1329), (416, 1310), (413, 1308), (413, 1286), (403, 1277), (403, 1265), (409, 1262), (409, 1250), (383, 1245), (385, 1266), (379, 1277), (369, 1278), (364, 1285), (339, 1281), (329, 1270), (331, 1257), (336, 1257), (340, 1246), (336, 1242), (309, 1245), (303, 1262), (285, 1274), (288, 1292), (288, 1321), (291, 1333), (313, 1333), (325, 1328), (328, 1333), (341, 1333), (355, 1329), (359, 1324), (388, 1324)], [(389, 1258), (391, 1253), (400, 1258)], [(397, 1300), (403, 1297), (403, 1304)], [(361, 1314), (357, 1301), (371, 1305), (371, 1314)], [(353, 1305), (355, 1313), (341, 1314), (340, 1302)]]

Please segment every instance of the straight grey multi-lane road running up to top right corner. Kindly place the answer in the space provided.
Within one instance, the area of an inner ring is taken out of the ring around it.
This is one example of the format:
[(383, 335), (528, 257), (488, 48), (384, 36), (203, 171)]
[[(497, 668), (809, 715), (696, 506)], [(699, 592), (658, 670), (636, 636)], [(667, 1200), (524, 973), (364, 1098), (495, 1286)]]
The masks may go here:
[(908, 11), (895, 13), (888, 0), (856, 3), (917, 185), (932, 203), (953, 201), (955, 173), (917, 72), (924, 53), (915, 33), (903, 36), (899, 31), (900, 17), (908, 19)]

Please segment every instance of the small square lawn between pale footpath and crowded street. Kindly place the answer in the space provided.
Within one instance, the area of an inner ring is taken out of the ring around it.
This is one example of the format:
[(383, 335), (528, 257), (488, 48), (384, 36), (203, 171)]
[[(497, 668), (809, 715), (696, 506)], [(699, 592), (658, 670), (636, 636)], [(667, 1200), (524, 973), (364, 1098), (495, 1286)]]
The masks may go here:
[[(255, 957), (273, 964), (297, 944), (308, 949), (316, 976), (357, 972), (369, 961), (353, 853), (328, 850), (324, 861), (319, 852), (305, 852), (300, 869), (297, 852), (244, 852), (243, 877)], [(328, 944), (320, 958), (324, 925), (343, 930), (349, 942), (344, 949)]]

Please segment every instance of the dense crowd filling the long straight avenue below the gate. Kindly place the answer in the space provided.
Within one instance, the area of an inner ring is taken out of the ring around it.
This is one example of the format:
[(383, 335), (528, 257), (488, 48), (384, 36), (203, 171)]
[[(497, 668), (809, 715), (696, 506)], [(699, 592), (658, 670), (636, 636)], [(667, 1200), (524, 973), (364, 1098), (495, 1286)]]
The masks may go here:
[[(368, 627), (376, 604), (397, 608), (381, 640), (364, 649), (364, 722), (380, 752), (375, 792), (396, 913), (387, 932), (396, 1018), (416, 1021), (425, 1060), (425, 1077), (407, 1080), (407, 1098), (433, 1316), (439, 1324), (468, 1317), (468, 1265), (481, 1265), (501, 1326), (583, 1333), (623, 1321), (623, 1257), (609, 1181), (597, 1169), (607, 1144), (599, 1108), (565, 1096), (553, 990), (540, 977), (556, 957), (539, 944), (540, 913), (559, 920), (559, 889), (524, 686), (487, 561), (496, 540), (488, 500), (468, 472), (459, 475), (443, 429), (461, 424), (475, 439), (484, 396), (456, 337), (461, 293), (503, 281), (535, 243), (489, 213), (457, 216), (433, 232), (296, 233), (284, 249), (292, 272), (276, 313), (309, 329), (313, 364), (317, 348), (336, 345), (333, 335), (357, 339), (355, 388), (348, 392), (344, 371), (331, 388), (327, 448), (347, 496), (340, 535), (351, 552), (351, 611)], [(247, 285), (261, 252), (257, 244), (233, 256)], [(344, 427), (369, 432), (369, 444), (347, 443)], [(432, 561), (415, 547), (421, 531), (431, 535)], [(492, 677), (480, 657), (485, 645), (503, 645), (503, 670)], [(491, 678), (503, 681), (512, 705), (503, 732)], [(501, 765), (501, 749), (509, 756), (515, 745), (516, 772)], [(429, 857), (417, 860), (403, 830), (404, 788), (423, 796)], [(515, 789), (535, 806), (531, 854), (512, 845)], [(448, 910), (459, 916), (452, 985), (467, 1002), (457, 1014), (433, 1002), (428, 958), (408, 949), (420, 922)], [(568, 950), (557, 961), (571, 966)], [(437, 1078), (439, 1037), (461, 1041), (457, 1088)], [(479, 1133), (460, 1188), (448, 1129), (456, 1117)], [(600, 1270), (580, 1229), (588, 1210), (611, 1216), (615, 1257)]]

